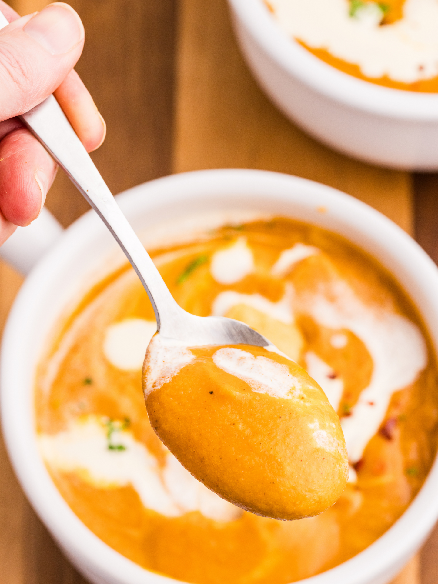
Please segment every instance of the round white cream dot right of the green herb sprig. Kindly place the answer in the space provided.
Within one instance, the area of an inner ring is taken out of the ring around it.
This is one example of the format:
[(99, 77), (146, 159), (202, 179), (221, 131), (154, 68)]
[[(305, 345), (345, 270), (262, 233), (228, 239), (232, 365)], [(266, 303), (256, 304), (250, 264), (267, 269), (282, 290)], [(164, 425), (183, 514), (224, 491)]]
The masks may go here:
[(235, 284), (254, 270), (254, 258), (246, 237), (220, 249), (211, 257), (210, 272), (219, 284)]

